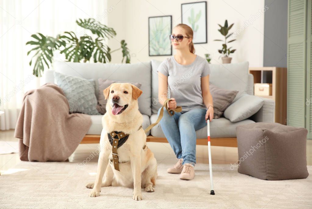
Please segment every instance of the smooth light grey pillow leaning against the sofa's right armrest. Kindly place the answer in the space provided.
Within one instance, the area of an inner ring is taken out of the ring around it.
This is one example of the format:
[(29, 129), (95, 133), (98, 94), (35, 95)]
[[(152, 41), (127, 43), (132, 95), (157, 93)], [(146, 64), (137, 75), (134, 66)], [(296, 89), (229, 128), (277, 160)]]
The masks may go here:
[(264, 100), (261, 97), (244, 94), (225, 109), (224, 117), (231, 122), (245, 120), (258, 112), (263, 103)]

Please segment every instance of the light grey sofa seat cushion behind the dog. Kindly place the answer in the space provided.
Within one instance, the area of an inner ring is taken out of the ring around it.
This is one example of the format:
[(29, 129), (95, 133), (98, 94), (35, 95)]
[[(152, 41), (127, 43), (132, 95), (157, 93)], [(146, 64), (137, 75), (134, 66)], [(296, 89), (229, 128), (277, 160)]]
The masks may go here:
[[(149, 122), (149, 116), (143, 115), (143, 128), (147, 128), (150, 125)], [(103, 115), (91, 115), (91, 127), (89, 128), (89, 131), (86, 134), (92, 134), (92, 135), (101, 135), (102, 132), (102, 117)], [(146, 133), (146, 135), (149, 135), (150, 131)]]

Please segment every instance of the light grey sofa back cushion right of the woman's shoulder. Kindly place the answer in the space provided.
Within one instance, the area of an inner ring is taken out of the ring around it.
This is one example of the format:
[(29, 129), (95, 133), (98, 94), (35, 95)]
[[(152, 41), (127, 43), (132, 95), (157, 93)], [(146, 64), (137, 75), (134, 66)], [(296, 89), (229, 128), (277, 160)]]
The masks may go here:
[(248, 62), (230, 64), (209, 64), (209, 82), (219, 88), (237, 90), (235, 102), (243, 94), (248, 93)]

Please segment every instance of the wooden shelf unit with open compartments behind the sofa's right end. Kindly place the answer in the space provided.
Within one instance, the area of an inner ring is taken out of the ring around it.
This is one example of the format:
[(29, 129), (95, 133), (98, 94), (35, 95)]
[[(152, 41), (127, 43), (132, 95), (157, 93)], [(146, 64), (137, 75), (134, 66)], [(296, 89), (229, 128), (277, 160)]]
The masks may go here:
[(249, 73), (254, 76), (254, 83), (261, 83), (263, 72), (272, 72), (272, 95), (260, 96), (274, 100), (276, 123), (286, 125), (287, 117), (287, 68), (285, 67), (249, 67)]

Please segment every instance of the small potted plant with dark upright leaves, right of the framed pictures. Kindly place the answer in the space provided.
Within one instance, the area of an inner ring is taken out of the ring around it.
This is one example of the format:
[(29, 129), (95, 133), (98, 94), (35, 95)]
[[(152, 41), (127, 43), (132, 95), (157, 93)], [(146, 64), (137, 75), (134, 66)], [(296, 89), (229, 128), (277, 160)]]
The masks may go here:
[(220, 24), (218, 24), (220, 26), (220, 29), (218, 30), (223, 36), (224, 36), (224, 40), (221, 39), (215, 39), (214, 41), (224, 41), (224, 44), (222, 44), (222, 49), (219, 49), (218, 52), (220, 54), (223, 54), (224, 56), (222, 57), (222, 63), (231, 63), (232, 57), (229, 57), (231, 53), (234, 53), (236, 51), (236, 49), (232, 49), (232, 47), (227, 48), (227, 44), (231, 43), (233, 41), (235, 41), (236, 39), (232, 39), (230, 41), (227, 41), (227, 39), (233, 34), (233, 33), (229, 33), (229, 30), (232, 28), (232, 26), (234, 25), (234, 23), (230, 26), (227, 25), (227, 20), (225, 20), (224, 26), (221, 26)]

